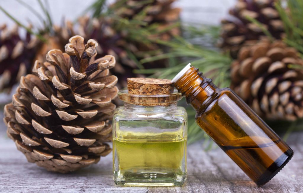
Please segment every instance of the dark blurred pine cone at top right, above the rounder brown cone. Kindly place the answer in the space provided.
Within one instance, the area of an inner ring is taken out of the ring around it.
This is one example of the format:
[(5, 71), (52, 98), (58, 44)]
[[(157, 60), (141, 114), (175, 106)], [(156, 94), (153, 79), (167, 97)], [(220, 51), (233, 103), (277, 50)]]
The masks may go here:
[(229, 17), (221, 21), (221, 42), (219, 47), (236, 58), (241, 46), (250, 40), (265, 36), (262, 29), (246, 17), (256, 19), (276, 39), (284, 35), (283, 22), (274, 6), (275, 0), (238, 0), (229, 10)]

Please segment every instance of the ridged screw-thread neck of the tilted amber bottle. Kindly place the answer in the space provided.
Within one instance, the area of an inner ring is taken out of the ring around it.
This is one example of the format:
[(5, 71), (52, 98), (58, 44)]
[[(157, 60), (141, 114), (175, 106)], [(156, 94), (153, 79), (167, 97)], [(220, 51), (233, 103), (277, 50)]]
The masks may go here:
[(204, 105), (218, 89), (210, 78), (205, 78), (198, 68), (191, 67), (174, 83), (186, 102), (195, 110)]

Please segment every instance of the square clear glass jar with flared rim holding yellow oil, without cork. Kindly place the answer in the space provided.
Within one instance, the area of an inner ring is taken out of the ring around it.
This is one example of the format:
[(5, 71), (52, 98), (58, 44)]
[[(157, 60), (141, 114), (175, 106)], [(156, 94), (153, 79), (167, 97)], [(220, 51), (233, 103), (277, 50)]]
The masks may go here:
[(187, 114), (181, 94), (118, 93), (124, 106), (113, 117), (116, 185), (177, 186), (186, 179)]

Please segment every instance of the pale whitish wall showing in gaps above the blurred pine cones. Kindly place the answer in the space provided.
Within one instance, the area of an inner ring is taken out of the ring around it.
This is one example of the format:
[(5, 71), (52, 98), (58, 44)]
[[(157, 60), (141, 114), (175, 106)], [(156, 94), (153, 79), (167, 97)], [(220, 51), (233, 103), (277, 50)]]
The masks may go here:
[[(35, 0), (26, 1), (40, 14), (43, 13), (39, 3)], [(72, 0), (52, 0), (49, 1), (49, 12), (55, 24), (62, 22), (62, 17), (73, 20), (79, 17), (94, 0), (72, 1)], [(108, 0), (107, 3), (113, 3), (114, 0)], [(235, 4), (236, 0), (178, 0), (174, 3), (174, 7), (181, 7), (181, 20), (184, 22), (197, 22), (204, 24), (219, 24), (221, 19), (227, 14), (228, 8)], [(18, 1), (2, 0), (1, 6), (12, 15), (19, 19), (20, 22), (26, 23), (30, 21), (33, 24), (39, 24), (39, 19), (35, 17), (31, 11), (22, 6)], [(3, 12), (0, 12), (0, 22), (7, 23), (9, 26), (14, 21), (9, 19)], [(40, 24), (39, 24), (40, 25)]]

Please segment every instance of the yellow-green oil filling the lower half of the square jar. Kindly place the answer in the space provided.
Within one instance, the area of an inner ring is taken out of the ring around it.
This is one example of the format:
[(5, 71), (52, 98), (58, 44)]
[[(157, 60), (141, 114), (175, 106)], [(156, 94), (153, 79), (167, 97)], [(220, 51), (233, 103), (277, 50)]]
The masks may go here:
[(118, 185), (181, 185), (186, 176), (186, 139), (113, 139)]

